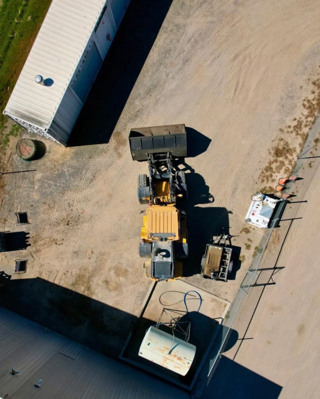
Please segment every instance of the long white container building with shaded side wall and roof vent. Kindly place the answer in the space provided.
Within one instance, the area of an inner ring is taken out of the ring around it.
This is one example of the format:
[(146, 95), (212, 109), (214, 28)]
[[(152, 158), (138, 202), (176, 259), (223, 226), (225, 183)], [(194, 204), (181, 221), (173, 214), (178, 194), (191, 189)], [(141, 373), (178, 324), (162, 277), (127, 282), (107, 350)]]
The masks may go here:
[(52, 0), (3, 113), (66, 145), (129, 1)]

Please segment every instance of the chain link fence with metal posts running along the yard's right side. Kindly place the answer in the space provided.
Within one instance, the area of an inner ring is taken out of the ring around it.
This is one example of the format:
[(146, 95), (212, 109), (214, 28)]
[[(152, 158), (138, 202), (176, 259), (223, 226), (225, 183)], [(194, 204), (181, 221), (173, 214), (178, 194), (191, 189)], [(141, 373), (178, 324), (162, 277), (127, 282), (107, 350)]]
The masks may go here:
[[(292, 195), (292, 198), (286, 205), (279, 226), (271, 227), (264, 232), (251, 265), (223, 321), (219, 347), (215, 348), (215, 353), (211, 354), (207, 385), (223, 353), (225, 353), (224, 356), (233, 360), (236, 357), (243, 339), (249, 331), (264, 290), (269, 285), (275, 284), (278, 273), (285, 265), (288, 246), (284, 244), (297, 228), (294, 222), (301, 219), (300, 215), (305, 207), (305, 202), (307, 202), (308, 192), (312, 190), (312, 179), (320, 165), (320, 151), (317, 149), (319, 134), (320, 117), (318, 116), (309, 130), (308, 137), (291, 173), (293, 176), (298, 176), (299, 180), (290, 182), (287, 185), (288, 189), (285, 190)], [(232, 348), (227, 348), (233, 331), (237, 332), (239, 339)]]

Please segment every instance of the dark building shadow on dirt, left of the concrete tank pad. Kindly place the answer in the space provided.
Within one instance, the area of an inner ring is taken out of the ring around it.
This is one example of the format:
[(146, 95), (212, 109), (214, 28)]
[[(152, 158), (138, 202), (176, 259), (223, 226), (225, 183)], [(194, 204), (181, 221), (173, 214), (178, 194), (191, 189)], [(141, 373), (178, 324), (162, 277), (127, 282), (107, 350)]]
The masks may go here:
[[(2, 273), (2, 272), (1, 272)], [(116, 359), (137, 317), (39, 277), (0, 273), (0, 306)]]

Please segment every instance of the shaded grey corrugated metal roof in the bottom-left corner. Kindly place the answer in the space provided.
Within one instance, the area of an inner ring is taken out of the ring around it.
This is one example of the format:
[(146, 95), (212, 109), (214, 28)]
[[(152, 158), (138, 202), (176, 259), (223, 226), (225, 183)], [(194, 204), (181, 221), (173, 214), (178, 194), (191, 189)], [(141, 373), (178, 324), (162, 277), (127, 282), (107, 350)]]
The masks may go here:
[[(12, 376), (10, 368), (19, 374)], [(41, 387), (34, 384), (41, 379)], [(187, 399), (188, 394), (0, 308), (0, 398)]]

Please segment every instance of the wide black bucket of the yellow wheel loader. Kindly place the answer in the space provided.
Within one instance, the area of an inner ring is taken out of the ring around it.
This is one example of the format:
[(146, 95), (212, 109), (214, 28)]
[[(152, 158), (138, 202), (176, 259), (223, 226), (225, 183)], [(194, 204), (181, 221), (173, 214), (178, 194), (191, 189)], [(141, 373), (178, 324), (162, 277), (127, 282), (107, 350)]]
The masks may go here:
[(133, 161), (147, 161), (148, 154), (171, 152), (172, 157), (186, 156), (184, 124), (138, 127), (129, 133)]

